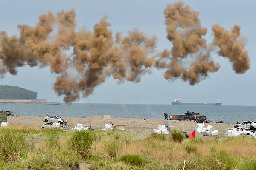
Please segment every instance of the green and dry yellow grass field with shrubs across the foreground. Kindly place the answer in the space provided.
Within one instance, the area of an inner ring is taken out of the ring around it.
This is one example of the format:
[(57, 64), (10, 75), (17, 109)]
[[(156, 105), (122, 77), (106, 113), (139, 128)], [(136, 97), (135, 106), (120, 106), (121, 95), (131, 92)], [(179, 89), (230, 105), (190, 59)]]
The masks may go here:
[(256, 169), (255, 139), (182, 139), (177, 132), (140, 139), (119, 130), (75, 133), (11, 125), (0, 129), (0, 169), (76, 170), (85, 162), (93, 170), (182, 170), (184, 160), (186, 170)]

